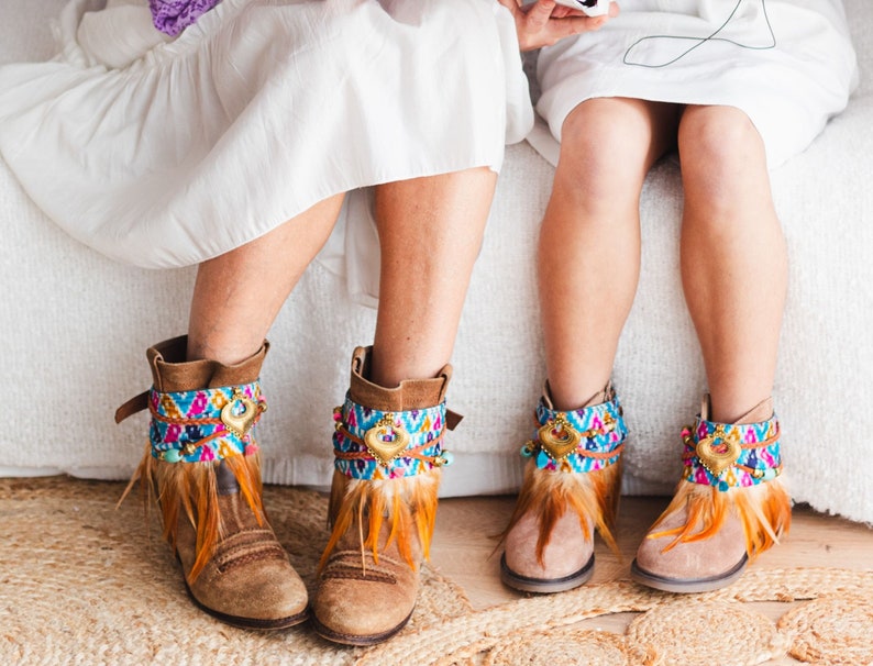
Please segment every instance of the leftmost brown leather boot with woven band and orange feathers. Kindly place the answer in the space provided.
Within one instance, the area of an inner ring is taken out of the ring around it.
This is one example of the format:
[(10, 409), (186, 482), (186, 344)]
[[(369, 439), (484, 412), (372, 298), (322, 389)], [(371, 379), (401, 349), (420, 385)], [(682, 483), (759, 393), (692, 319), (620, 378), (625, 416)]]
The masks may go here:
[(131, 485), (141, 479), (158, 498), (198, 607), (246, 629), (291, 626), (307, 619), (307, 591), (264, 512), (253, 432), (266, 410), (257, 378), (268, 343), (233, 366), (186, 362), (186, 346), (183, 336), (151, 347), (152, 390), (115, 414), (152, 413)]

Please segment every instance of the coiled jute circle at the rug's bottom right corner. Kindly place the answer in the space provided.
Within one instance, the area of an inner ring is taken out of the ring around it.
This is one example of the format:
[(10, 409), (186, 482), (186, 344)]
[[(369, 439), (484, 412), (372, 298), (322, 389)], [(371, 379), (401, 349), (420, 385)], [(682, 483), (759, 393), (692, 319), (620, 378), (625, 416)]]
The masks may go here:
[(870, 596), (830, 595), (785, 613), (778, 628), (792, 636), (792, 656), (813, 664), (873, 664), (873, 601)]

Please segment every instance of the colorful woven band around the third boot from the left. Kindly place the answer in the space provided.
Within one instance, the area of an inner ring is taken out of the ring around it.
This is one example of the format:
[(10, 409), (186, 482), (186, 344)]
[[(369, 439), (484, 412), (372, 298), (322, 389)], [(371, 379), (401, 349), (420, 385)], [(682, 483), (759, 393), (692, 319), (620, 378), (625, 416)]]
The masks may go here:
[(594, 471), (618, 462), (628, 429), (615, 392), (600, 404), (570, 412), (537, 408), (539, 428), (521, 455), (553, 471)]

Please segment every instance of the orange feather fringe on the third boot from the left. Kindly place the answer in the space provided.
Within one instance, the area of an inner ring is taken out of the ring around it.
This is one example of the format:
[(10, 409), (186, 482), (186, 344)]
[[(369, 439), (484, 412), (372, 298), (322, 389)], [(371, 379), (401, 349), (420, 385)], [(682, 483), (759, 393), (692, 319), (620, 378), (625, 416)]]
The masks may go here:
[(544, 554), (557, 520), (565, 511), (579, 518), (585, 539), (593, 539), (588, 528), (594, 523), (607, 545), (620, 557), (612, 528), (618, 515), (621, 486), (621, 459), (601, 469), (586, 473), (552, 471), (540, 469), (531, 460), (524, 469), (524, 482), (519, 491), (516, 509), (501, 541), (529, 512), (537, 515), (540, 534), (537, 540), (537, 559), (545, 566)]

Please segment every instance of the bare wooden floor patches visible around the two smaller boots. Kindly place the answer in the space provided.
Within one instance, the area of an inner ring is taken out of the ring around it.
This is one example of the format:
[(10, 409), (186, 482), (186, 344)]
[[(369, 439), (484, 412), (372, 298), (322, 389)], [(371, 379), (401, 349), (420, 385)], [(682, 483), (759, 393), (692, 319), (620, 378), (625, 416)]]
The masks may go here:
[[(598, 540), (592, 582), (627, 579), (642, 536), (668, 498), (622, 498), (617, 537), (625, 562)], [(512, 510), (513, 498), (460, 498), (440, 502), (431, 562), (464, 588), (475, 609), (504, 603), (522, 595), (500, 582), (500, 552), (494, 553), (499, 533)], [(754, 567), (873, 568), (873, 530), (839, 518), (795, 507), (792, 531), (784, 542), (764, 553)], [(777, 620), (789, 608), (781, 602), (755, 603), (755, 609)], [(623, 633), (633, 613), (587, 620), (583, 625)], [(785, 657), (772, 664), (795, 664)]]

